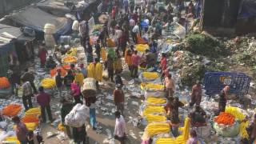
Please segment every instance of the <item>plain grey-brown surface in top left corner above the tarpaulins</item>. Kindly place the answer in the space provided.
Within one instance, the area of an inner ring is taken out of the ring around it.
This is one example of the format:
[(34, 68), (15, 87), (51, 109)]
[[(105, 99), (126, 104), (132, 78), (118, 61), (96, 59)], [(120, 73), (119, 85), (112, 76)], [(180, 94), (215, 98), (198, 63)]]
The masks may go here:
[(37, 1), (38, 0), (0, 0), (0, 18), (9, 14), (12, 10), (17, 10)]

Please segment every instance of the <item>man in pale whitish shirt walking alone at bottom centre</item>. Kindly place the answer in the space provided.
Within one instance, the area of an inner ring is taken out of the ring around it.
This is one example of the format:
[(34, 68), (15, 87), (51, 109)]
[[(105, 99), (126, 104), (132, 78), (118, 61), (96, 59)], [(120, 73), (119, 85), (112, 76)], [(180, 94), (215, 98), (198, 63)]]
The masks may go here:
[(119, 111), (116, 111), (114, 115), (116, 118), (114, 126), (114, 138), (118, 139), (121, 144), (124, 144), (126, 138), (126, 121)]

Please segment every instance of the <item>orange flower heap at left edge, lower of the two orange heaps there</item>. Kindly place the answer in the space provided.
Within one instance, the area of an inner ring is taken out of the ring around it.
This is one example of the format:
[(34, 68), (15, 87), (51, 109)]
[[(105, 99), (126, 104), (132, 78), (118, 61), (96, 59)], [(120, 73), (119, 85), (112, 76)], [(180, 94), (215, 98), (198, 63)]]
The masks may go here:
[(22, 106), (18, 104), (9, 104), (2, 110), (2, 114), (7, 117), (14, 117), (22, 110)]

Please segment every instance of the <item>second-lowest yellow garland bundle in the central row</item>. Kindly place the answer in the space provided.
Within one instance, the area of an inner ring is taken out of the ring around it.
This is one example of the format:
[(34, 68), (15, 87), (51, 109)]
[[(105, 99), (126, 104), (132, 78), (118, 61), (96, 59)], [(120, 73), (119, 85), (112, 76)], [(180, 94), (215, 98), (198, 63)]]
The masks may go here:
[(146, 126), (145, 132), (152, 138), (155, 134), (169, 133), (170, 125), (166, 122), (152, 122)]

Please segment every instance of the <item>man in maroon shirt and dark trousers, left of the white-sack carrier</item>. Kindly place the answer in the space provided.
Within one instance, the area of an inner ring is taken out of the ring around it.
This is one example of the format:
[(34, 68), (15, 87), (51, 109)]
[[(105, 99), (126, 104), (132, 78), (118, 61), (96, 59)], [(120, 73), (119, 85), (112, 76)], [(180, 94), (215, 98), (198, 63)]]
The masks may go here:
[(39, 94), (37, 95), (37, 102), (39, 106), (41, 106), (41, 114), (42, 114), (42, 122), (46, 122), (46, 112), (48, 114), (48, 118), (50, 122), (53, 122), (54, 119), (52, 118), (51, 115), (51, 110), (50, 110), (50, 94), (46, 94), (43, 90), (43, 87), (39, 87)]

